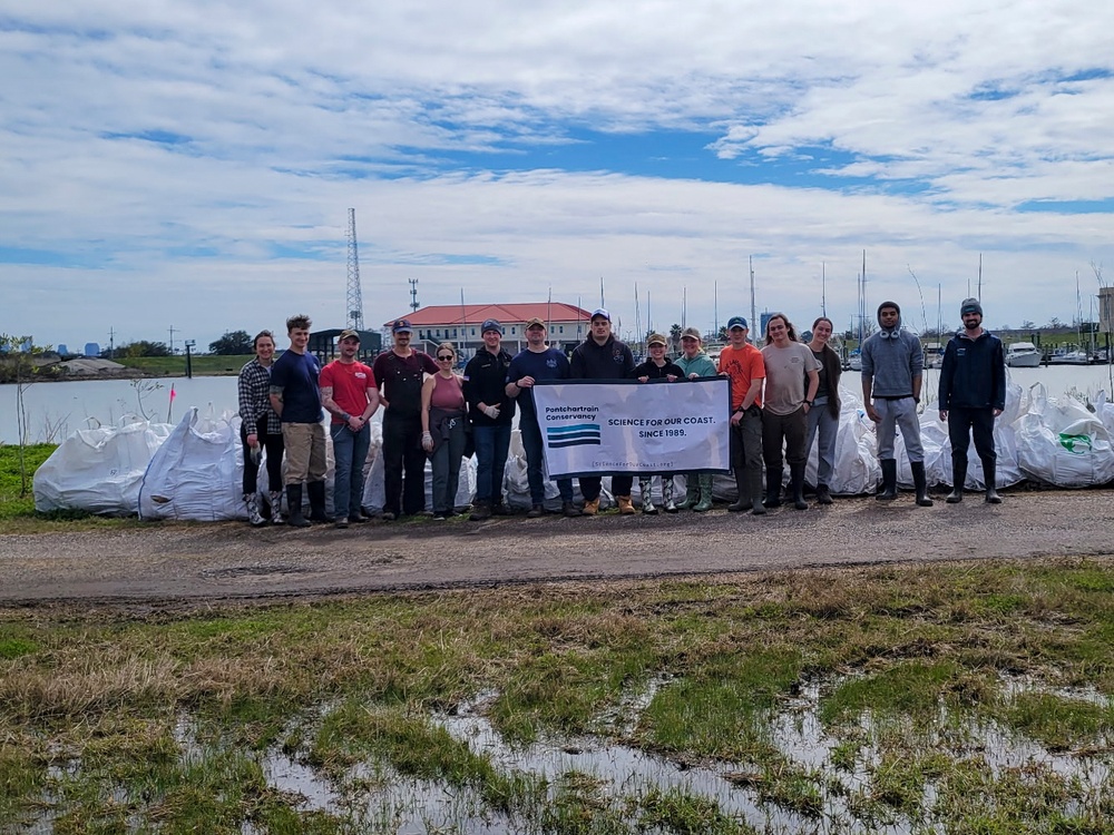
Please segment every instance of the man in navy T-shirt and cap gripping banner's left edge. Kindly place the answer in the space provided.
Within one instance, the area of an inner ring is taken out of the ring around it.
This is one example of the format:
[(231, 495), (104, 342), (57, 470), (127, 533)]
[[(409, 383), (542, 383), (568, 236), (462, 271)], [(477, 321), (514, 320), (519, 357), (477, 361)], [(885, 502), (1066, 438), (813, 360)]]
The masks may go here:
[[(515, 355), (507, 369), (507, 396), (516, 399), (520, 410), (518, 429), (522, 433), (526, 480), (530, 485), (530, 510), (526, 515), (530, 519), (545, 513), (546, 500), (545, 448), (534, 404), (534, 384), (539, 380), (568, 380), (569, 375), (568, 357), (549, 347), (547, 335), (546, 323), (540, 318), (527, 322), (526, 347)], [(557, 492), (560, 493), (561, 513), (566, 517), (580, 515), (573, 503), (573, 480), (557, 479)]]

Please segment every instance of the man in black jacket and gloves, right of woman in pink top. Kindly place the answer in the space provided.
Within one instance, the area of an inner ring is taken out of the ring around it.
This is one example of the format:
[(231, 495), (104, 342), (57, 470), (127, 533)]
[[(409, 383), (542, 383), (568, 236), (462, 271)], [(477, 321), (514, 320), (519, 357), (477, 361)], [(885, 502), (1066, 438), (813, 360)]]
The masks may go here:
[(502, 481), (510, 452), (515, 401), (507, 396), (510, 354), (502, 348), (502, 325), (494, 318), (480, 326), (483, 347), (465, 366), (465, 397), (476, 444), (476, 507), (469, 519), (510, 515), (502, 502)]

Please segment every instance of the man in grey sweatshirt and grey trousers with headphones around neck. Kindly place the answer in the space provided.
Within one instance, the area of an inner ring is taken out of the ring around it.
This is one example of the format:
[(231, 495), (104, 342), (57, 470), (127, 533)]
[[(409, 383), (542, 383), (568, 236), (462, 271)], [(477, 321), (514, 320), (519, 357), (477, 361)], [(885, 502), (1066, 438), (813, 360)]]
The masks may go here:
[(909, 469), (917, 489), (917, 504), (929, 508), (925, 475), (925, 449), (920, 444), (920, 384), (925, 352), (920, 340), (901, 327), (901, 308), (896, 302), (878, 306), (878, 332), (862, 343), (862, 402), (867, 416), (878, 424), (878, 462), (882, 466), (882, 492), (874, 498), (898, 498), (898, 461), (893, 441), (901, 430)]

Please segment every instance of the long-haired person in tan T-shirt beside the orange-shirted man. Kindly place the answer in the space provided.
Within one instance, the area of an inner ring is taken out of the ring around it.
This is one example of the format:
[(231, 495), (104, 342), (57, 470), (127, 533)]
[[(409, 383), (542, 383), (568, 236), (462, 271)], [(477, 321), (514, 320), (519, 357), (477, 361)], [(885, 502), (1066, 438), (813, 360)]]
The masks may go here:
[[(784, 313), (766, 320), (765, 363), (766, 386), (762, 406), (762, 450), (766, 464), (768, 508), (781, 504), (781, 472), (789, 461), (789, 478), (793, 489), (793, 507), (808, 510), (804, 501), (804, 464), (808, 462), (805, 438), (809, 433), (809, 410), (820, 385), (820, 362), (808, 345), (797, 338), (797, 331)], [(808, 385), (808, 392), (805, 392)], [(784, 459), (782, 458), (784, 444)]]

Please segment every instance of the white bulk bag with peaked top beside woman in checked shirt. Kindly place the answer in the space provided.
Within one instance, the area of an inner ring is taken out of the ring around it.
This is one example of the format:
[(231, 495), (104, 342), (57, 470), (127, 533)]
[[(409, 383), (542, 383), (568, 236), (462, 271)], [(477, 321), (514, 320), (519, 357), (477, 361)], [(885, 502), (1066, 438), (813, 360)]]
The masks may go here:
[(139, 490), (143, 519), (246, 519), (238, 419), (189, 409), (152, 458)]

